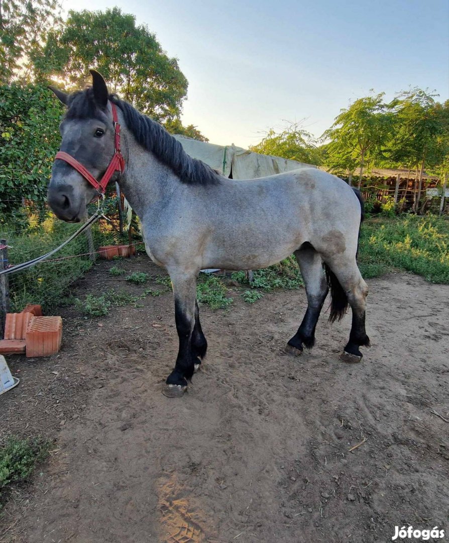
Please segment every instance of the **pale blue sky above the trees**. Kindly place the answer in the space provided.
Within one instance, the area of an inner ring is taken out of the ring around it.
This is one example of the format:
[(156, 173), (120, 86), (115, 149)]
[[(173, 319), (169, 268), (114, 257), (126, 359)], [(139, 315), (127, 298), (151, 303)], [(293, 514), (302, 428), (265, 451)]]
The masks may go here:
[(284, 121), (320, 136), (371, 89), (449, 99), (448, 0), (63, 1), (66, 12), (114, 6), (178, 59), (183, 124), (211, 143), (247, 148)]

